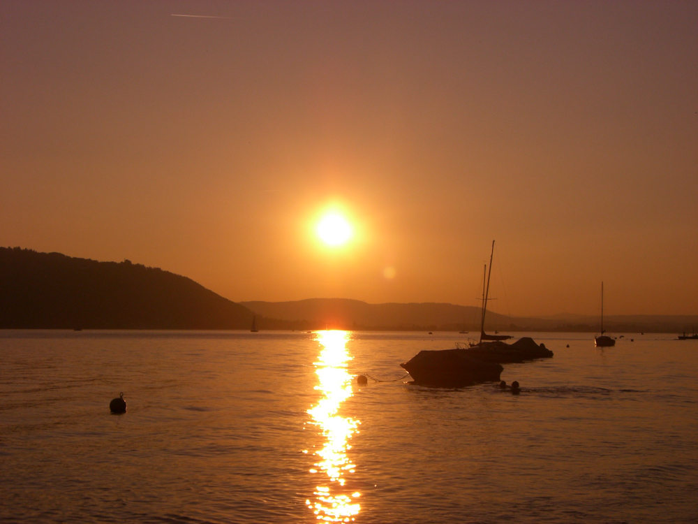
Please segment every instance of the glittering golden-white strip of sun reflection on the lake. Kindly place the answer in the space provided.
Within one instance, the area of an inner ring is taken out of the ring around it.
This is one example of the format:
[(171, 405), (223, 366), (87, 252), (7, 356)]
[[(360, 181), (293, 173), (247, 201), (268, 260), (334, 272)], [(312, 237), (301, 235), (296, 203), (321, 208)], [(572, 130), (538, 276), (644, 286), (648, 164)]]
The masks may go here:
[(354, 472), (355, 465), (347, 456), (351, 449), (348, 440), (358, 432), (359, 421), (338, 414), (341, 403), (352, 395), (352, 377), (347, 371), (351, 360), (346, 349), (349, 332), (318, 331), (317, 337), (322, 351), (318, 362), (314, 363), (320, 380), (315, 389), (322, 392), (322, 398), (308, 413), (313, 418), (311, 423), (322, 430), (325, 446), (315, 451), (318, 462), (310, 472), (327, 475), (327, 478), (316, 486), (314, 501), (306, 500), (306, 504), (320, 521), (350, 522), (361, 509), (354, 502), (360, 494), (345, 493), (344, 476)]

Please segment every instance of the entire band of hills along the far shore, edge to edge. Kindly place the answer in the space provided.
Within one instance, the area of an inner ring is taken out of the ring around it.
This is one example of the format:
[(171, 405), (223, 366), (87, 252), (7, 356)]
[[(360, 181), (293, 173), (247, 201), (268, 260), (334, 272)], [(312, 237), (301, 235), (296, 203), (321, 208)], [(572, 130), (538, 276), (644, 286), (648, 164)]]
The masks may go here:
[[(130, 261), (98, 262), (0, 247), (0, 328), (467, 330), (480, 333), (480, 307), (447, 303), (369, 304), (346, 298), (234, 303), (187, 277)], [(485, 329), (596, 332), (595, 316), (541, 319), (487, 312)], [(611, 333), (681, 333), (698, 315), (604, 317)]]

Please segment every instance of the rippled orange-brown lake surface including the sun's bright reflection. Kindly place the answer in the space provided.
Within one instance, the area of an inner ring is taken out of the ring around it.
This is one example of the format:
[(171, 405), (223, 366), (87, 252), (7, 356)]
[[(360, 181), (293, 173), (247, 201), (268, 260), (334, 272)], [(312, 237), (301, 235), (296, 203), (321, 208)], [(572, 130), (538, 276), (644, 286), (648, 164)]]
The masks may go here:
[(698, 522), (698, 342), (527, 335), (514, 396), (406, 384), (456, 333), (0, 331), (0, 521)]

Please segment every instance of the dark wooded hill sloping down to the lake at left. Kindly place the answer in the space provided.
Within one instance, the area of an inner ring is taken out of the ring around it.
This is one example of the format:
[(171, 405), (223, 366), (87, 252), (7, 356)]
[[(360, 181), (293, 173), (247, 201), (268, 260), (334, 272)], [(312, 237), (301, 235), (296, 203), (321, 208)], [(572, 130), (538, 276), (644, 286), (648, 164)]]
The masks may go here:
[(0, 328), (249, 329), (252, 318), (158, 268), (0, 247)]

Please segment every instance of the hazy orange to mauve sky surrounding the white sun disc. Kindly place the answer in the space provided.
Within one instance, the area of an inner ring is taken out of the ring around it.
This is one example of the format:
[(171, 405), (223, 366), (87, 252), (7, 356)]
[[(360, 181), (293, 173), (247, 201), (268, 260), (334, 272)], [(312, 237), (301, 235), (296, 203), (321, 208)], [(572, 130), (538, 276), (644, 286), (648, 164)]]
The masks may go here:
[(0, 245), (477, 305), (496, 239), (498, 312), (698, 313), (696, 1), (4, 0), (0, 73)]

